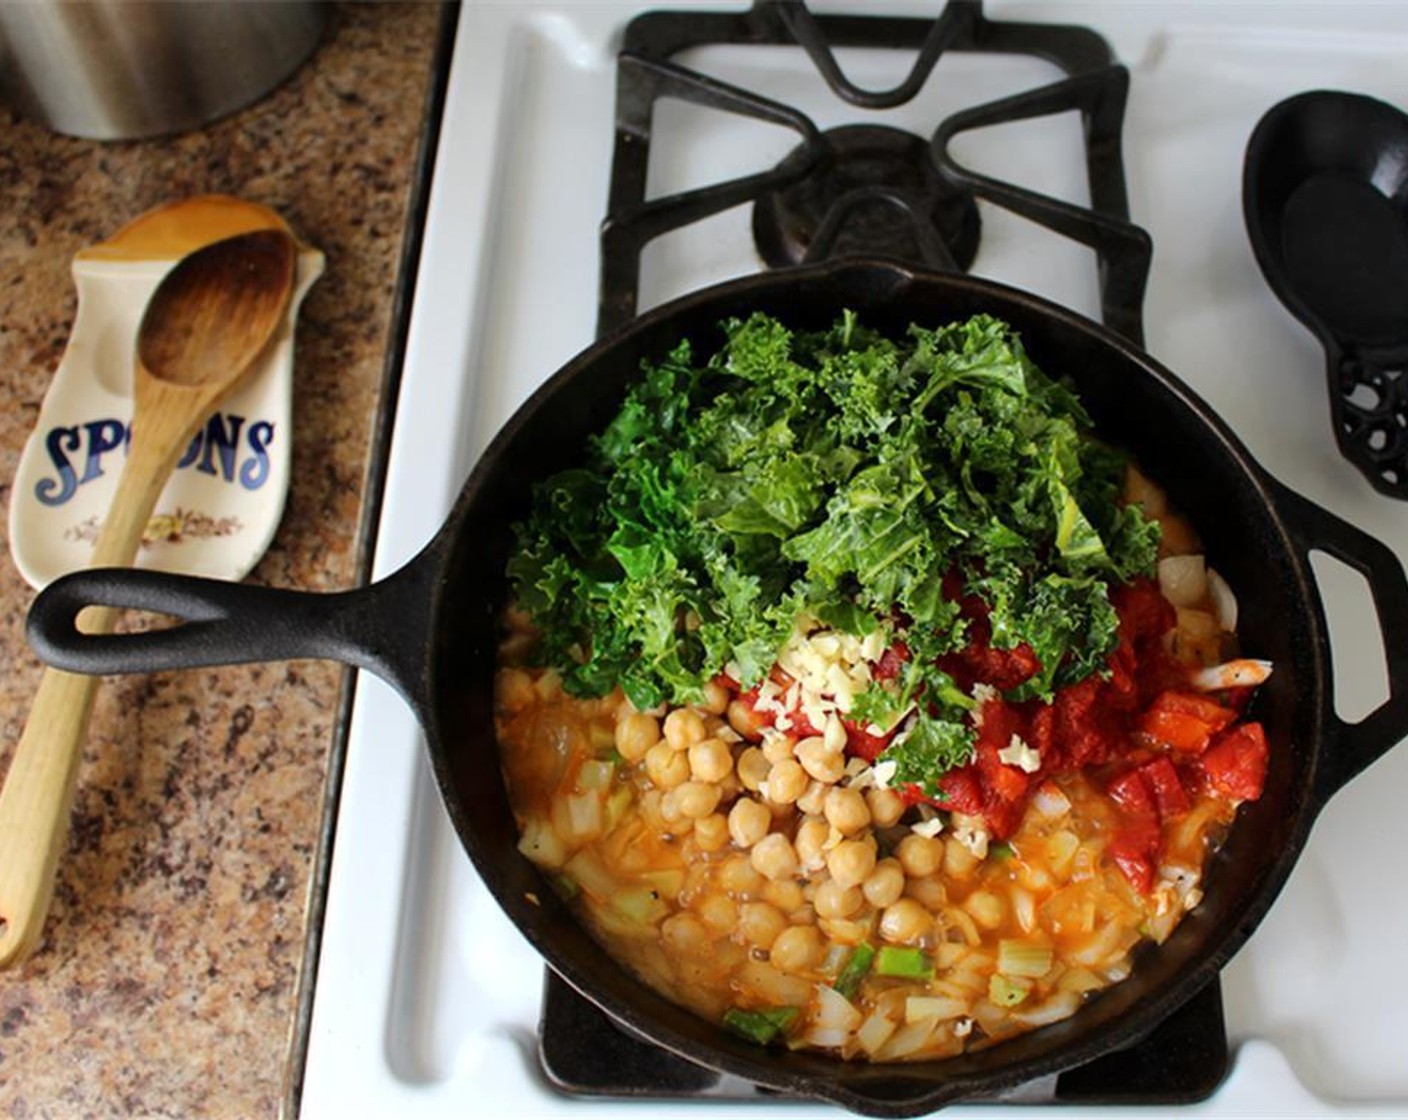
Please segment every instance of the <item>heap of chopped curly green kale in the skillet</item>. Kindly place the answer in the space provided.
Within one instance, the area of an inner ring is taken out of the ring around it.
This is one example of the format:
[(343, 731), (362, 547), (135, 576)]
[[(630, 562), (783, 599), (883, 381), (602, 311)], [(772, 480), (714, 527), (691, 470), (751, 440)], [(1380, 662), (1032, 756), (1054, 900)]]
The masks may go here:
[(924, 785), (972, 751), (972, 702), (935, 664), (967, 641), (946, 580), (984, 602), (997, 648), (1035, 652), (1012, 699), (1104, 671), (1110, 587), (1152, 569), (1157, 524), (1118, 500), (1124, 455), (1007, 324), (722, 330), (715, 354), (645, 366), (517, 525), (513, 590), (570, 692), (697, 700), (725, 664), (762, 679), (803, 611), (880, 628), (911, 658), (859, 710), (911, 713), (890, 757)]

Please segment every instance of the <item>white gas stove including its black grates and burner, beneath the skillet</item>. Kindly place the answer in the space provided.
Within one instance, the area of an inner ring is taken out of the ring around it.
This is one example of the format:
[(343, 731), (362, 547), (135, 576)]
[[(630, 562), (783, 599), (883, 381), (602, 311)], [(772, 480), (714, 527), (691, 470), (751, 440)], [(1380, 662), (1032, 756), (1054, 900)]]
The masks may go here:
[[(1314, 87), (1408, 104), (1405, 48), (1393, 4), (466, 0), (373, 576), (431, 538), (498, 425), (598, 332), (860, 245), (1105, 321), (1273, 475), (1408, 556), (1402, 507), (1335, 451), (1321, 352), (1240, 217), (1260, 116)], [(1359, 641), (1376, 624), (1362, 578), (1315, 566), (1353, 720), (1385, 695), (1377, 642)], [(693, 1097), (743, 1116), (773, 1099), (641, 1047), (545, 979), (462, 854), (410, 711), (366, 675), (341, 764), (303, 1116), (666, 1116)], [(1152, 1048), (983, 1114), (1408, 1110), (1402, 789), (1400, 748), (1331, 803), (1221, 986)], [(1156, 1069), (1167, 1054), (1187, 1059)]]

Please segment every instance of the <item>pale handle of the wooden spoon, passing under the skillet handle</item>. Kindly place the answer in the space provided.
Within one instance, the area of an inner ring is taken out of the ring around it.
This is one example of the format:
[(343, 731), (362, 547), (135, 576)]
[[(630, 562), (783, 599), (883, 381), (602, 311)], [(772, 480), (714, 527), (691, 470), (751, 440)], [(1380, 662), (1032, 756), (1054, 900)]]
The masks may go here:
[[(93, 547), (94, 568), (131, 566), (190, 427), (189, 417), (176, 423), (162, 410), (142, 414)], [(114, 620), (115, 611), (92, 609), (83, 628), (108, 633)], [(28, 957), (44, 930), (99, 682), (97, 676), (44, 671), (0, 790), (0, 969)]]

